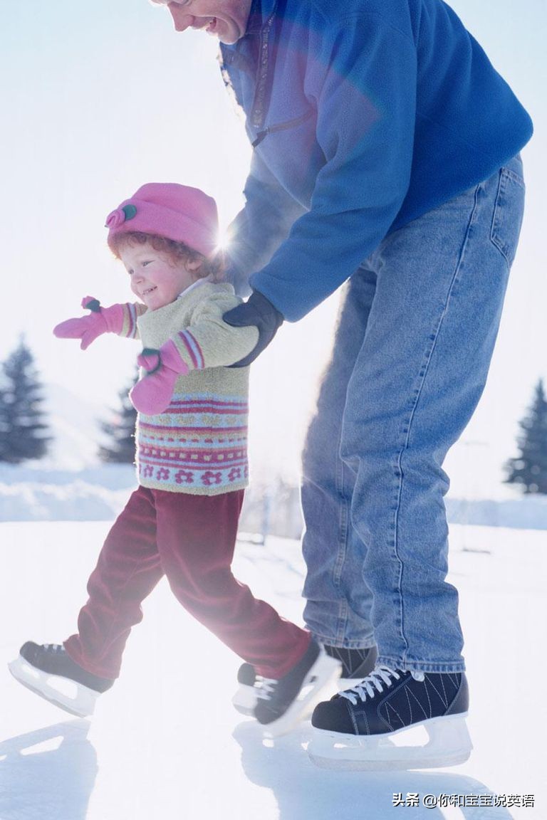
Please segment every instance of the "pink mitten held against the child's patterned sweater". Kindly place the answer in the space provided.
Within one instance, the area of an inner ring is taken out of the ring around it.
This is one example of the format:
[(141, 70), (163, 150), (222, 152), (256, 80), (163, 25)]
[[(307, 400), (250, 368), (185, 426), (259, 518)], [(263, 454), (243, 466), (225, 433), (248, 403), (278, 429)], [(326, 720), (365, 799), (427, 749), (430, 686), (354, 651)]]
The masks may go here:
[(175, 381), (185, 376), (189, 367), (180, 358), (180, 353), (171, 339), (159, 350), (144, 348), (137, 358), (140, 367), (148, 371), (130, 391), (130, 399), (135, 410), (155, 416), (171, 404)]

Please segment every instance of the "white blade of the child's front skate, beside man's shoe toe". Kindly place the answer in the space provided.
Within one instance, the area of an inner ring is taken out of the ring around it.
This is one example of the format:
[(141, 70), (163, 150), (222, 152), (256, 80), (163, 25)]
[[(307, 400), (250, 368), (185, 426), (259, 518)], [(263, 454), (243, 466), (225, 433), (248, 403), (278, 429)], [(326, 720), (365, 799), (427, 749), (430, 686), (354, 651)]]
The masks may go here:
[(300, 721), (309, 717), (320, 700), (335, 695), (336, 681), (340, 677), (341, 664), (321, 652), (308, 674), (304, 678), (299, 695), (290, 704), (287, 711), (271, 723), (262, 726), (265, 737), (280, 737), (294, 729)]

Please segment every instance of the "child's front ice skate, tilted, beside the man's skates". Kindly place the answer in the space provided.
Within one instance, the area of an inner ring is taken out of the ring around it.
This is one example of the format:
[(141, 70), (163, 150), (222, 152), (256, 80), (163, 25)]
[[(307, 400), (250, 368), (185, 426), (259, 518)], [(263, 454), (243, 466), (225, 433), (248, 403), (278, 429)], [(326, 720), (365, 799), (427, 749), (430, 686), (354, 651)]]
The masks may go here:
[(340, 663), (311, 640), (303, 658), (279, 680), (263, 677), (258, 687), (254, 717), (270, 737), (285, 735), (308, 717), (313, 707), (332, 691)]

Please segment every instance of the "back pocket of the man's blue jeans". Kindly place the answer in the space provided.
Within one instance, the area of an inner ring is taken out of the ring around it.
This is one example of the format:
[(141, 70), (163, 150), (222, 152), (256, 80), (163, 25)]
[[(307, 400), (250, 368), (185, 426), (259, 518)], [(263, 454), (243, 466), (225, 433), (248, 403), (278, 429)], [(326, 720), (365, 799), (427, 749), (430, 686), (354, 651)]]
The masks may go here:
[(513, 265), (517, 253), (524, 213), (524, 194), (522, 177), (508, 167), (501, 168), (490, 239), (504, 255), (508, 267)]

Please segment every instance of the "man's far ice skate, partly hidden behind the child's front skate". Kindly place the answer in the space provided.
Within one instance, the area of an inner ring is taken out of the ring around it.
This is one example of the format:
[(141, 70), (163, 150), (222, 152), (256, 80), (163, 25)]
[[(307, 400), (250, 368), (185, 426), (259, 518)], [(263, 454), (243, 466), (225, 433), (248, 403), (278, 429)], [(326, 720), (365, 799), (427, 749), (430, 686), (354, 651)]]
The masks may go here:
[[(337, 646), (323, 645), (326, 654), (341, 663), (340, 678), (336, 686), (339, 690), (349, 689), (350, 686), (362, 681), (374, 669), (377, 652), (376, 646), (370, 649), (342, 649)], [(257, 705), (258, 689), (262, 684), (262, 677), (257, 674), (251, 663), (242, 663), (238, 669), (238, 690), (232, 698), (232, 704), (239, 713), (252, 715)]]

